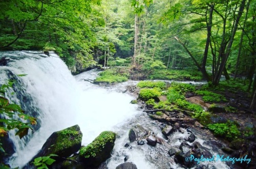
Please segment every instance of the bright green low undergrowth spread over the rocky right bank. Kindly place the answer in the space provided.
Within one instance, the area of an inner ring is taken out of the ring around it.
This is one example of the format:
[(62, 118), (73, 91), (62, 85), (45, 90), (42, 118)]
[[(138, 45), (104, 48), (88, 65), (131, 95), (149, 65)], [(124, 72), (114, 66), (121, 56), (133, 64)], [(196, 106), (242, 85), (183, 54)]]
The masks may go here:
[[(191, 118), (197, 119), (197, 121), (211, 130), (216, 136), (224, 137), (231, 142), (238, 138), (245, 138), (253, 135), (254, 129), (242, 129), (236, 121), (231, 120), (228, 120), (226, 123), (216, 123), (212, 118), (218, 118), (219, 116), (217, 114), (205, 110), (205, 107), (202, 107), (199, 104), (187, 101), (185, 97), (187, 93), (201, 96), (202, 100), (205, 103), (211, 104), (210, 107), (212, 108), (215, 107), (217, 103), (227, 102), (227, 99), (221, 94), (221, 92), (226, 90), (235, 91), (238, 90), (238, 88), (240, 89), (241, 84), (233, 83), (236, 85), (230, 86), (230, 83), (232, 84), (232, 82), (221, 82), (221, 85), (218, 88), (223, 88), (223, 90), (210, 88), (208, 84), (203, 86), (194, 86), (187, 83), (172, 82), (169, 86), (169, 84), (166, 85), (166, 83), (162, 81), (140, 81), (137, 86), (141, 88), (139, 99), (146, 101), (145, 103), (147, 105), (152, 106), (155, 109), (165, 109), (166, 111), (185, 110)], [(228, 89), (226, 89), (227, 87)], [(160, 95), (167, 99), (155, 99)], [(226, 111), (229, 109), (230, 106), (225, 107)], [(232, 109), (236, 108), (232, 107)], [(157, 115), (161, 116), (162, 114), (158, 112)]]

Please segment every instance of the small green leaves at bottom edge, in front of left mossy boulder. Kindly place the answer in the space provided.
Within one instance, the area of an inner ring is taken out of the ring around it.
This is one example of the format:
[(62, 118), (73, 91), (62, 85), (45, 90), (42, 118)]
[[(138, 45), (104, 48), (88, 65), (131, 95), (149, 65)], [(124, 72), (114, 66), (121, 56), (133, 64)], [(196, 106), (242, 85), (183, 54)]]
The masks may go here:
[(57, 156), (55, 154), (50, 154), (49, 156), (37, 157), (32, 162), (37, 169), (48, 169), (47, 165), (51, 165), (56, 160), (52, 159), (51, 157)]

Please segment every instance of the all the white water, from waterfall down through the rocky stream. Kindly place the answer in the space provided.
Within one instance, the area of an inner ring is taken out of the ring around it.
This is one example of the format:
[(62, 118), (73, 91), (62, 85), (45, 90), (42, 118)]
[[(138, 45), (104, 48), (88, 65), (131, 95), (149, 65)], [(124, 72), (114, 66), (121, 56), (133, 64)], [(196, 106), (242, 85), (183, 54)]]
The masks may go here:
[[(161, 123), (150, 120), (138, 107), (130, 104), (135, 96), (126, 92), (126, 85), (135, 85), (137, 81), (127, 81), (117, 85), (94, 85), (84, 79), (96, 78), (98, 71), (91, 70), (72, 76), (65, 63), (51, 53), (50, 57), (43, 53), (31, 51), (1, 52), (1, 57), (10, 58), (8, 66), (0, 67), (0, 82), (15, 79), (15, 95), (9, 99), (18, 104), (29, 115), (37, 118), (35, 132), (19, 139), (14, 131), (10, 138), (15, 145), (15, 153), (10, 158), (11, 167), (22, 167), (40, 150), (46, 139), (54, 132), (78, 124), (83, 134), (82, 145), (88, 145), (105, 130), (118, 133), (112, 157), (108, 160), (108, 168), (132, 161), (138, 168), (178, 168), (174, 158), (170, 158), (164, 145), (158, 148), (148, 145), (130, 148), (129, 130), (137, 124), (150, 128), (163, 138), (159, 126)], [(27, 74), (18, 77), (18, 74)], [(10, 91), (12, 92), (12, 91)], [(188, 132), (176, 132), (173, 140), (168, 140), (178, 147), (188, 136)], [(201, 143), (204, 141), (200, 138)], [(166, 140), (167, 142), (167, 140)], [(228, 168), (224, 163), (216, 164)], [(218, 167), (217, 167), (218, 168)]]

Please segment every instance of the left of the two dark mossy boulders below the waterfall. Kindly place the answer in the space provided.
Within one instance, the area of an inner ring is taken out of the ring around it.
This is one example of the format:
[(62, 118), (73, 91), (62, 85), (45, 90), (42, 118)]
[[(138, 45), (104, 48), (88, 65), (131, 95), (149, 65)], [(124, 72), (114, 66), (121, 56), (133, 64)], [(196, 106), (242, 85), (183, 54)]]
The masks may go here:
[(82, 132), (78, 125), (56, 131), (46, 140), (42, 149), (35, 157), (56, 154), (60, 157), (69, 157), (81, 147)]

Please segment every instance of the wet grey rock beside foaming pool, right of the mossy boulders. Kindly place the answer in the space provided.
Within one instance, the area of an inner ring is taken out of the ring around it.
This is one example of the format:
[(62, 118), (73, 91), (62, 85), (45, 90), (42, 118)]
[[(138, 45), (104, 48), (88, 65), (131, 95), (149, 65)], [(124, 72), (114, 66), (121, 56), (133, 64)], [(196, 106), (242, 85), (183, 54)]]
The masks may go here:
[(148, 134), (148, 130), (140, 125), (136, 125), (129, 131), (130, 142), (134, 142), (139, 138), (144, 138)]

